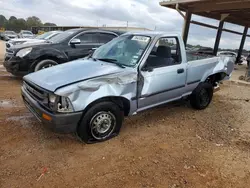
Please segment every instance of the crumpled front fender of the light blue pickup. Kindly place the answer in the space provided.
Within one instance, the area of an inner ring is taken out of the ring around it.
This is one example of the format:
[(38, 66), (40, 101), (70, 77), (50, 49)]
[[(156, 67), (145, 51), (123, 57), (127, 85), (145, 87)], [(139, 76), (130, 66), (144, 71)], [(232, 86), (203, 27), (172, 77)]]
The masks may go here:
[[(128, 68), (127, 68), (128, 69)], [(89, 104), (106, 97), (121, 97), (130, 101), (130, 112), (136, 111), (137, 71), (124, 72), (85, 80), (62, 87), (55, 94), (68, 97), (75, 111), (83, 111)]]

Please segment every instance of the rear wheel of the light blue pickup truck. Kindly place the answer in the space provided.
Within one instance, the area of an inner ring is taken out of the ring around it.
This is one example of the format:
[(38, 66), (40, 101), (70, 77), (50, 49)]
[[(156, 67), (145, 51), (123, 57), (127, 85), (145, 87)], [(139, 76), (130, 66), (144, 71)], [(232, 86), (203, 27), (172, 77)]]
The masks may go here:
[(191, 106), (197, 110), (207, 108), (212, 101), (213, 90), (211, 83), (200, 83), (190, 96)]

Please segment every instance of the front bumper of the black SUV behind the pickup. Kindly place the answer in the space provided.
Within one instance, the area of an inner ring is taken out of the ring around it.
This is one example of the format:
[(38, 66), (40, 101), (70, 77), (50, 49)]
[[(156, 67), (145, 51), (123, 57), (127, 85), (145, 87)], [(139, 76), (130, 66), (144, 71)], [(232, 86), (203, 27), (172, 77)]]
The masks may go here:
[(4, 67), (8, 72), (16, 76), (24, 76), (29, 73), (29, 62), (23, 58), (13, 56), (12, 54), (5, 54)]

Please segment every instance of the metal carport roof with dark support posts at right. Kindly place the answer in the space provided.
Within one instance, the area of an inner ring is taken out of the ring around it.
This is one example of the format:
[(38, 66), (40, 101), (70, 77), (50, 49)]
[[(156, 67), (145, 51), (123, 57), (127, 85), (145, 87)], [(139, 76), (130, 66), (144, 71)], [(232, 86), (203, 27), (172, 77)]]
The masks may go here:
[[(250, 0), (170, 0), (162, 1), (160, 2), (160, 5), (163, 7), (176, 9), (184, 17), (185, 24), (183, 28), (183, 39), (185, 43), (187, 42), (190, 23), (218, 29), (214, 46), (215, 54), (218, 51), (222, 31), (242, 35), (237, 59), (240, 58), (245, 39), (247, 36), (249, 36), (247, 35), (247, 32), (248, 27), (250, 26)], [(184, 15), (182, 11), (186, 12), (186, 15)], [(217, 27), (206, 23), (192, 21), (192, 14), (219, 20), (220, 24)], [(244, 32), (241, 33), (238, 31), (224, 29), (224, 22), (244, 26)]]

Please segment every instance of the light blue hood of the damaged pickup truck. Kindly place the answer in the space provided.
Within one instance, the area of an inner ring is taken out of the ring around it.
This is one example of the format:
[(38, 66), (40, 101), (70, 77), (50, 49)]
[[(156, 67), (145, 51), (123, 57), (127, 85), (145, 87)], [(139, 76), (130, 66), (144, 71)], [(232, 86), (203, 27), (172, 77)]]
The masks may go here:
[(120, 68), (117, 65), (103, 61), (79, 59), (28, 74), (24, 77), (24, 80), (34, 83), (46, 90), (55, 91), (57, 88), (68, 84), (115, 74), (125, 70), (126, 69)]

